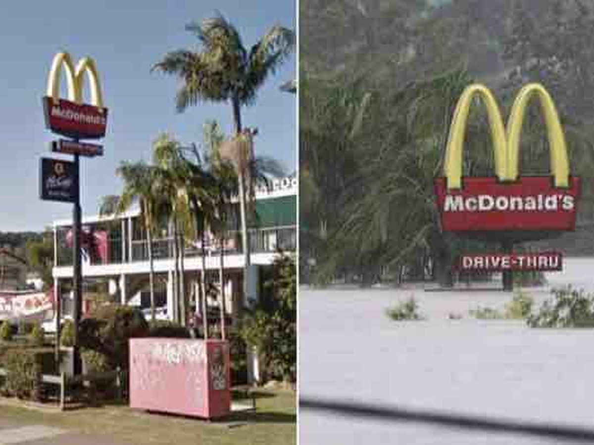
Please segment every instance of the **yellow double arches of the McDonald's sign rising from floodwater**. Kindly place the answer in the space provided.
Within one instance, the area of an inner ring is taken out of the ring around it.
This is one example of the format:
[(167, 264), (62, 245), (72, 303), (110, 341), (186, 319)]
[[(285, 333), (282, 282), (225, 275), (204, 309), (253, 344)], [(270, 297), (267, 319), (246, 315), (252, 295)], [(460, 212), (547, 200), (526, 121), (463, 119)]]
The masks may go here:
[(525, 85), (514, 100), (507, 120), (507, 128), (504, 129), (500, 108), (491, 91), (484, 85), (473, 84), (462, 93), (450, 126), (444, 161), (444, 176), (447, 178), (448, 189), (462, 187), (462, 150), (470, 104), (475, 96), (480, 97), (486, 107), (495, 152), (495, 176), (498, 180), (513, 182), (518, 179), (520, 136), (526, 107), (531, 98), (538, 97), (545, 117), (551, 174), (554, 176), (555, 187), (569, 186), (569, 161), (565, 136), (555, 104), (545, 88), (536, 83)]

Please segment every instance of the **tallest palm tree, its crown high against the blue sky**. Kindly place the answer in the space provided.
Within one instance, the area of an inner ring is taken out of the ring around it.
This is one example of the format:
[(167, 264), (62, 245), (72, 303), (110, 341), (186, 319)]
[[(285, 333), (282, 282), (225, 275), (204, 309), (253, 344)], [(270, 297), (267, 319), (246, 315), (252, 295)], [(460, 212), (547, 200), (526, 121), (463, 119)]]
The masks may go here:
[[(186, 29), (197, 37), (202, 50), (194, 52), (180, 49), (169, 52), (153, 66), (153, 70), (176, 75), (184, 82), (176, 94), (176, 107), (180, 112), (202, 100), (230, 103), (235, 138), (241, 138), (241, 106), (254, 103), (258, 88), (292, 52), (295, 46), (293, 32), (282, 26), (273, 26), (248, 50), (237, 28), (220, 14), (201, 23), (188, 24)], [(237, 173), (244, 277), (247, 277), (250, 257), (245, 202), (246, 171), (239, 169)], [(244, 279), (244, 295), (247, 297), (246, 294), (247, 280)]]

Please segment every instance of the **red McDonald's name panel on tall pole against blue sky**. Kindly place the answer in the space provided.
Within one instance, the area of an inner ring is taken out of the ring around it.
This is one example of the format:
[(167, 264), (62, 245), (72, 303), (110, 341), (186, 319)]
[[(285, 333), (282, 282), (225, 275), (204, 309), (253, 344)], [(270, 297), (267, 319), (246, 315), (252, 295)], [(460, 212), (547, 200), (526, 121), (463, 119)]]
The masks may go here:
[(105, 136), (108, 109), (77, 104), (65, 99), (43, 98), (46, 126), (54, 133), (71, 138), (98, 139)]

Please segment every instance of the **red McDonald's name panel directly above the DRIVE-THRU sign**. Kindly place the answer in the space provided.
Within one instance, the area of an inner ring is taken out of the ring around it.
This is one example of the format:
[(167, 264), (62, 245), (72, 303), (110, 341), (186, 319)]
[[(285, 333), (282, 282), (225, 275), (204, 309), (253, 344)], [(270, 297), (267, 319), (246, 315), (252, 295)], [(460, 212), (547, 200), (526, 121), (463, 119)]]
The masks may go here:
[(520, 177), (501, 183), (495, 177), (466, 177), (462, 189), (448, 190), (435, 179), (441, 225), (447, 231), (573, 230), (576, 225), (579, 177), (555, 188), (551, 177)]

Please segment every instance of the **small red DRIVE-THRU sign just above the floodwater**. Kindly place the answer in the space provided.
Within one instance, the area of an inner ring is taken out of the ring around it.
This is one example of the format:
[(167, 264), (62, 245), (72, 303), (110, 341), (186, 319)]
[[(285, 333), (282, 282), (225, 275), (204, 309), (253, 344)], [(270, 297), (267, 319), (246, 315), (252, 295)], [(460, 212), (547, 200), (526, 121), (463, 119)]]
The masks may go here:
[(560, 252), (542, 253), (473, 253), (460, 255), (460, 271), (561, 271)]

